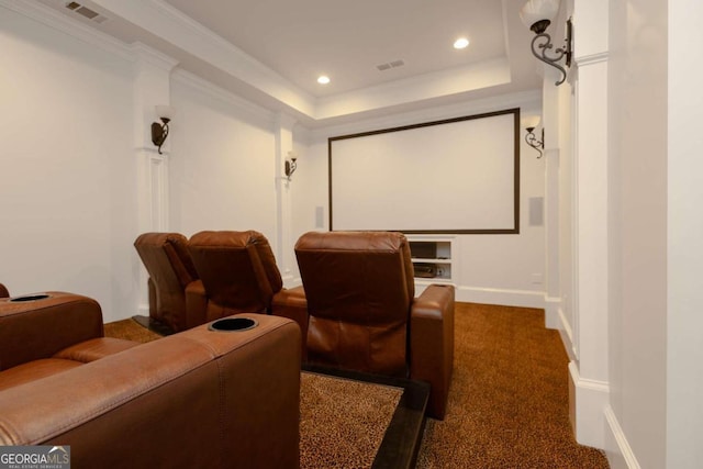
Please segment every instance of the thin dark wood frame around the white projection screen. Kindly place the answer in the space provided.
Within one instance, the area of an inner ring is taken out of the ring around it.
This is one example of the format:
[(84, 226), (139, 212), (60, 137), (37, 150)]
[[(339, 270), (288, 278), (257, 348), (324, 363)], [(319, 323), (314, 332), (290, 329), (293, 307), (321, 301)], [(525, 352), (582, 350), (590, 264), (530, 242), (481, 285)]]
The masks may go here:
[(476, 119), (493, 118), (496, 115), (513, 114), (513, 153), (514, 153), (514, 181), (513, 181), (513, 227), (499, 230), (392, 230), (402, 231), (408, 234), (520, 234), (520, 108), (506, 109), (503, 111), (487, 112), (482, 114), (466, 115), (462, 118), (446, 119), (442, 121), (424, 122), (420, 124), (403, 125), (400, 127), (382, 129), (370, 132), (361, 132), (349, 135), (339, 135), (327, 138), (327, 178), (328, 178), (328, 203), (330, 203), (330, 231), (334, 231), (332, 225), (332, 143), (341, 139), (365, 137), (369, 135), (378, 135), (390, 132), (408, 131), (413, 129), (427, 127), (431, 125), (451, 124), (455, 122), (470, 121)]

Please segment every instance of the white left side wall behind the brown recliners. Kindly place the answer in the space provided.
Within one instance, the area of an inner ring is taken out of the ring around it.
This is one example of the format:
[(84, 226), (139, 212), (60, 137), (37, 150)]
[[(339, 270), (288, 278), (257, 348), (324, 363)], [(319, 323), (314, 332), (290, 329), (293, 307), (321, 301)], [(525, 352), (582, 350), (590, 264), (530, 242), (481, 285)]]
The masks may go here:
[[(168, 57), (20, 11), (0, 7), (0, 282), (12, 294), (85, 294), (105, 322), (144, 313), (133, 243), (156, 226), (157, 205), (164, 231), (257, 230), (277, 248), (271, 112), (182, 71), (147, 72), (145, 83), (140, 58)], [(156, 149), (144, 134), (164, 96), (176, 108), (159, 158), (168, 170), (145, 177)], [(153, 183), (168, 189), (165, 200)]]

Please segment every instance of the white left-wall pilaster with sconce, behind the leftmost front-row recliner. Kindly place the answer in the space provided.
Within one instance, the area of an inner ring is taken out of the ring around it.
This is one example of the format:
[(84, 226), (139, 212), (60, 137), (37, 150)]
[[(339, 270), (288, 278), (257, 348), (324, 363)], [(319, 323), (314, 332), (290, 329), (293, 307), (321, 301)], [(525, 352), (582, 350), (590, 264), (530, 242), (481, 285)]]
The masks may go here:
[[(159, 122), (156, 105), (170, 103), (170, 72), (177, 60), (144, 44), (133, 46), (134, 155), (136, 160), (136, 235), (168, 231), (168, 156), (170, 139), (161, 154), (152, 143), (152, 123)], [(138, 258), (137, 258), (138, 261)], [(148, 315), (146, 270), (138, 263), (140, 314)]]

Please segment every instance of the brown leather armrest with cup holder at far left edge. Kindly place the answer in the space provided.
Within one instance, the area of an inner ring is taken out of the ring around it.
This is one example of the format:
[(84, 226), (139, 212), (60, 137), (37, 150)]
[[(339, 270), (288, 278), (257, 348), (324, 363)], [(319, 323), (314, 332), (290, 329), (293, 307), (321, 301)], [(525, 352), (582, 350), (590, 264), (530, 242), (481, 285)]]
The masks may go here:
[(48, 298), (31, 301), (0, 299), (0, 370), (103, 336), (97, 301), (57, 291), (45, 294)]

